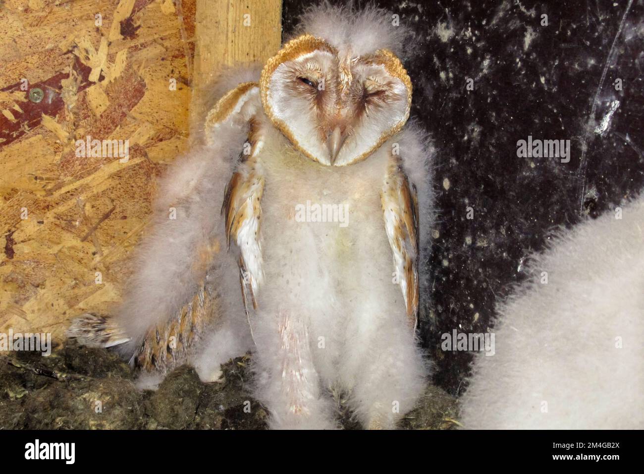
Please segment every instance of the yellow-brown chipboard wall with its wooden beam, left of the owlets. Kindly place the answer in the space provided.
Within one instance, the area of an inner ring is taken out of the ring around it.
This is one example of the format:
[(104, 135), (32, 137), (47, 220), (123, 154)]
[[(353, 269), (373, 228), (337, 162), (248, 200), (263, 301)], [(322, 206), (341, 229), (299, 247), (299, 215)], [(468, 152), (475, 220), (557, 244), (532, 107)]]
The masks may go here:
[[(61, 340), (72, 317), (114, 309), (155, 179), (187, 148), (191, 86), (221, 63), (273, 54), (280, 10), (274, 0), (0, 0), (0, 333)], [(251, 28), (240, 28), (245, 13)], [(194, 61), (198, 35), (207, 46)], [(88, 136), (128, 140), (127, 161), (78, 157)]]

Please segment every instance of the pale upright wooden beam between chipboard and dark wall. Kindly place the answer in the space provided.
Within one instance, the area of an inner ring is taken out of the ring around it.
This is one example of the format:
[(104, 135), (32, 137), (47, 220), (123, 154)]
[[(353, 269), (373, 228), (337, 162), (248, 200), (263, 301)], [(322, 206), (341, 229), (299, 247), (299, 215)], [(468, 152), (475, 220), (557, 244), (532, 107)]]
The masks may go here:
[(281, 46), (281, 0), (196, 0), (193, 114), (224, 66), (263, 63)]

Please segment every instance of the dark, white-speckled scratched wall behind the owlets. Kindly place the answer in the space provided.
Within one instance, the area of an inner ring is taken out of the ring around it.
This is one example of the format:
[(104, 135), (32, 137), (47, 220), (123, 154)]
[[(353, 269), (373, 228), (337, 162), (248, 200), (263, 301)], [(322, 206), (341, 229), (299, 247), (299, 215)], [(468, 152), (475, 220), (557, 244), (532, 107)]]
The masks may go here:
[[(315, 4), (284, 0), (285, 37)], [(439, 212), (431, 309), (421, 330), (437, 366), (435, 382), (456, 395), (465, 388), (471, 353), (440, 350), (440, 334), (492, 328), (495, 300), (522, 281), (526, 257), (543, 249), (554, 229), (614, 210), (644, 185), (644, 6), (641, 0), (376, 5), (400, 15), (418, 46), (404, 62), (414, 86), (412, 117), (437, 148)], [(474, 90), (466, 89), (468, 79)], [(614, 101), (619, 106), (600, 134), (595, 128)], [(517, 141), (528, 135), (569, 139), (569, 163), (517, 157)], [(473, 219), (466, 218), (468, 206)]]

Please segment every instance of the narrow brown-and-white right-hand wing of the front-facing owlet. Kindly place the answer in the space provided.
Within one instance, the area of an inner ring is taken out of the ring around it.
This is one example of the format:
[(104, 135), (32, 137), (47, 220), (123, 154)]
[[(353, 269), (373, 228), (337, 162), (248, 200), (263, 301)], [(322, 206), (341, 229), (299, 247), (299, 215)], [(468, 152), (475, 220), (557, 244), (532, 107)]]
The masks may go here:
[(407, 316), (410, 325), (415, 327), (419, 302), (418, 199), (399, 157), (392, 155), (390, 160), (381, 193), (384, 225)]

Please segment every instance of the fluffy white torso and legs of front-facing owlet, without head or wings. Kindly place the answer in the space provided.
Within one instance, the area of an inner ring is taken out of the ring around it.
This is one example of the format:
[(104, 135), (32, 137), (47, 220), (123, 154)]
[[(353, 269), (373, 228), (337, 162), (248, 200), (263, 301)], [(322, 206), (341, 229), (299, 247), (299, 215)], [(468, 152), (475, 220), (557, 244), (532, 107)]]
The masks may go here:
[[(393, 141), (410, 163), (425, 163), (417, 138), (403, 132), (365, 161), (342, 167), (289, 152), (279, 133), (267, 138), (265, 283), (251, 321), (255, 393), (272, 413), (272, 428), (334, 428), (325, 392), (336, 389), (350, 395), (363, 426), (391, 428), (424, 390), (427, 368), (392, 279), (380, 198)], [(307, 201), (347, 206), (347, 225), (298, 222), (296, 206)]]

